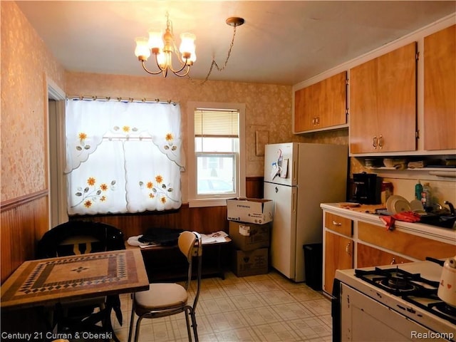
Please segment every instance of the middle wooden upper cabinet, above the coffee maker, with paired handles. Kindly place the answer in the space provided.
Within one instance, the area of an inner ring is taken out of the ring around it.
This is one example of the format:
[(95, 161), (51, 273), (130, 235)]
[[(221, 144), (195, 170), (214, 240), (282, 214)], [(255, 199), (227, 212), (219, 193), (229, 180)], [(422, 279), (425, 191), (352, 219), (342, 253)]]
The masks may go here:
[(350, 70), (350, 152), (416, 150), (417, 43)]

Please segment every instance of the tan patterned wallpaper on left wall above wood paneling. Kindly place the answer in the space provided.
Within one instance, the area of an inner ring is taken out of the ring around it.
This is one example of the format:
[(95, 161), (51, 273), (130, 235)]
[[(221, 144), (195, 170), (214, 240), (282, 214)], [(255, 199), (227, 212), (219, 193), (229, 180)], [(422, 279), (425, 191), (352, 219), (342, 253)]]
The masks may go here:
[(64, 86), (63, 68), (14, 1), (1, 6), (1, 201), (45, 190), (46, 77)]

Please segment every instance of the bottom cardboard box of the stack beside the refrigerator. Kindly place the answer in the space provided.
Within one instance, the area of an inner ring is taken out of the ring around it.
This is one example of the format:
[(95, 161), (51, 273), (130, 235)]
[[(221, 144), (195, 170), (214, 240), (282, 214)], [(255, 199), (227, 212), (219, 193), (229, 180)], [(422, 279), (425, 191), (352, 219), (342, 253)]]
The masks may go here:
[(269, 249), (234, 251), (233, 273), (237, 276), (254, 276), (268, 273)]

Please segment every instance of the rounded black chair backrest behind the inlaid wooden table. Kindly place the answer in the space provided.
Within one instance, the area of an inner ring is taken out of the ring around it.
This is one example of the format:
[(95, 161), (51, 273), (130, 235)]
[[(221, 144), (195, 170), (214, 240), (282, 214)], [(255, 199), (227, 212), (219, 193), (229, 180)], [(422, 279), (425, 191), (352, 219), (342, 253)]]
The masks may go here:
[(70, 221), (48, 230), (38, 242), (38, 259), (125, 249), (123, 232), (102, 222)]

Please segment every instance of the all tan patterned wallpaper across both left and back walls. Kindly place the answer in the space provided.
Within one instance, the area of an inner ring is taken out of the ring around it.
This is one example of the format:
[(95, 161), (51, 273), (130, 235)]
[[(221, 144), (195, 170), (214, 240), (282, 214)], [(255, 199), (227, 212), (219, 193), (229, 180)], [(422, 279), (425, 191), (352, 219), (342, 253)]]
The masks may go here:
[[(66, 72), (14, 1), (1, 1), (1, 201), (48, 187), (46, 78), (68, 95), (178, 101), (183, 115), (184, 138), (187, 138), (187, 102), (245, 103), (247, 176), (263, 175), (264, 157), (255, 152), (257, 131), (267, 131), (270, 143), (301, 141), (348, 144), (346, 130), (312, 135), (291, 133), (291, 86), (222, 81), (202, 84), (199, 80), (174, 76), (162, 78)], [(186, 173), (182, 175), (182, 190), (185, 189)]]

